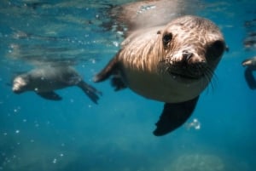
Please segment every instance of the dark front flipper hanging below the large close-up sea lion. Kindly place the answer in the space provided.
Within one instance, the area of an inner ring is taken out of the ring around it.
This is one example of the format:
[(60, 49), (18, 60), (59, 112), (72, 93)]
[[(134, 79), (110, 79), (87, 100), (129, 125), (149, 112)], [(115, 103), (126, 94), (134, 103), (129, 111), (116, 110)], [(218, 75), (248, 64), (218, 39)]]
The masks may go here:
[(185, 123), (194, 111), (198, 99), (199, 96), (181, 103), (166, 103), (160, 120), (155, 123), (157, 128), (154, 130), (154, 135), (161, 136), (170, 133)]

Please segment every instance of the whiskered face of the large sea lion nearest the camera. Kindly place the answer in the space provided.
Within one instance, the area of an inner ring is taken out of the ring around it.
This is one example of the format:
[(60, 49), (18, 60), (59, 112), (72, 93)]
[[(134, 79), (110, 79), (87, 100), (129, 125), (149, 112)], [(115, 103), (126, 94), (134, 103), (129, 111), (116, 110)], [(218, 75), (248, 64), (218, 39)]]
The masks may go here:
[(185, 16), (160, 32), (164, 70), (179, 81), (205, 77), (209, 81), (224, 53), (224, 37), (210, 20)]

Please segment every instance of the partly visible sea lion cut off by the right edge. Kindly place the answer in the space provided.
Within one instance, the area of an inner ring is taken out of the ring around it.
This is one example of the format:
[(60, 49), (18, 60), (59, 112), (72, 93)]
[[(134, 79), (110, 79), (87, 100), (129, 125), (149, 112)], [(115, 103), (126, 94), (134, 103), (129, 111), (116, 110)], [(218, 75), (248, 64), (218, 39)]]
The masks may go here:
[(249, 58), (247, 60), (243, 60), (241, 62), (241, 65), (247, 66), (244, 72), (244, 76), (246, 78), (249, 88), (256, 89), (256, 80), (253, 77), (253, 71), (256, 71), (256, 56)]

